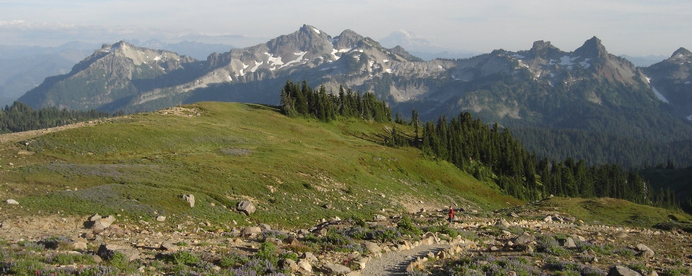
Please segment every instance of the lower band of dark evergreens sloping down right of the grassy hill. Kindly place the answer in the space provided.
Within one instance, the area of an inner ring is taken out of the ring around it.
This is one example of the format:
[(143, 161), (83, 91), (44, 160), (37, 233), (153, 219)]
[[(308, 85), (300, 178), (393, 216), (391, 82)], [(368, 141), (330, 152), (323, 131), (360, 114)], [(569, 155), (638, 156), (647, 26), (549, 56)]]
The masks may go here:
[[(509, 129), (492, 127), (471, 113), (460, 113), (437, 123), (420, 127), (417, 112), (412, 112), (415, 138), (409, 145), (419, 147), (435, 159), (453, 163), (458, 168), (485, 180), (494, 179), (508, 195), (522, 200), (540, 200), (547, 195), (565, 197), (613, 197), (639, 204), (675, 207), (675, 193), (652, 190), (635, 171), (620, 165), (587, 165), (584, 159), (564, 161), (538, 159), (526, 151)], [(395, 138), (394, 133), (392, 140)]]

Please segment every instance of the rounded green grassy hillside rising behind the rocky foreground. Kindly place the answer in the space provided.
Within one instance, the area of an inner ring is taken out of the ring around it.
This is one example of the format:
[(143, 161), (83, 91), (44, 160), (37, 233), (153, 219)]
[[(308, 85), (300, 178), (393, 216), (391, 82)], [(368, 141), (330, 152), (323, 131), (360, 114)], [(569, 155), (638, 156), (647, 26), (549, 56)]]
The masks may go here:
[[(417, 149), (382, 145), (391, 127), (207, 102), (26, 134), (0, 147), (0, 197), (20, 202), (0, 211), (305, 226), (382, 209), (520, 203)], [(234, 211), (243, 199), (258, 207), (249, 218)]]

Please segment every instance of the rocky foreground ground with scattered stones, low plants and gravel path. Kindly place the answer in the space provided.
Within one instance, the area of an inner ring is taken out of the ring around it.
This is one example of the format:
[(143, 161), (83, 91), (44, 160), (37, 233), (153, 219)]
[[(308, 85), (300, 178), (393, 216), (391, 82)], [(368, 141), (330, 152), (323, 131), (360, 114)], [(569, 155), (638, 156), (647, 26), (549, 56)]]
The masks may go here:
[(422, 210), (214, 232), (162, 216), (2, 218), (0, 274), (690, 275), (691, 235), (678, 230), (589, 225), (556, 211), (459, 211), (452, 224), (445, 216)]

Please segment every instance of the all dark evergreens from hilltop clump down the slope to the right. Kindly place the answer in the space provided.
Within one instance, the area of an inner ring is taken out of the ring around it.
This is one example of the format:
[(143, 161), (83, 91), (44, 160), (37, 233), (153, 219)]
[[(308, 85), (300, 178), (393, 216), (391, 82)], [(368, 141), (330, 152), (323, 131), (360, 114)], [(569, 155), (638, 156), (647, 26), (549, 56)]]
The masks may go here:
[[(281, 110), (289, 116), (330, 121), (337, 117), (389, 122), (392, 111), (372, 93), (344, 91), (338, 95), (287, 81), (281, 92)], [(399, 126), (399, 127), (397, 127)], [(404, 129), (412, 129), (404, 131)], [(540, 200), (549, 195), (563, 197), (613, 197), (638, 204), (679, 208), (670, 188), (652, 189), (634, 170), (606, 163), (588, 165), (584, 159), (539, 159), (527, 151), (507, 128), (485, 124), (471, 113), (460, 113), (437, 122), (421, 122), (412, 110), (411, 120), (396, 113), (386, 144), (412, 146), (431, 159), (447, 161), (481, 181), (494, 181), (504, 193), (522, 200)]]

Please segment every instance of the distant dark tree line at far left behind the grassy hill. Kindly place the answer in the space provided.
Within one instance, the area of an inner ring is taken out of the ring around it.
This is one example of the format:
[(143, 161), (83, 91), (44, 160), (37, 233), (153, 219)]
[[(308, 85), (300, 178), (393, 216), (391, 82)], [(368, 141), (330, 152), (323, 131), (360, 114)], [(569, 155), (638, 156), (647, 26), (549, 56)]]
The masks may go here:
[[(122, 115), (122, 113), (113, 115)], [(0, 110), (0, 133), (58, 127), (64, 124), (110, 116), (110, 113), (95, 110), (69, 111), (56, 107), (35, 110), (22, 102), (14, 102), (12, 106), (5, 106)]]

